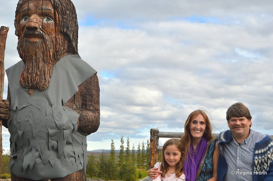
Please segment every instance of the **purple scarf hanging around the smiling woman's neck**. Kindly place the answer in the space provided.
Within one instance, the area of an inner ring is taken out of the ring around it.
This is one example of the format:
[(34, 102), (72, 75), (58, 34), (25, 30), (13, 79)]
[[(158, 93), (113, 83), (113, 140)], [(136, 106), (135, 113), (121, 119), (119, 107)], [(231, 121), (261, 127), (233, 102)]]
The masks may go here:
[(202, 137), (202, 140), (198, 144), (195, 152), (194, 152), (193, 145), (192, 144), (190, 145), (190, 149), (188, 150), (188, 154), (184, 163), (184, 171), (185, 171), (187, 181), (196, 180), (196, 175), (206, 150), (207, 150), (207, 140), (204, 137)]

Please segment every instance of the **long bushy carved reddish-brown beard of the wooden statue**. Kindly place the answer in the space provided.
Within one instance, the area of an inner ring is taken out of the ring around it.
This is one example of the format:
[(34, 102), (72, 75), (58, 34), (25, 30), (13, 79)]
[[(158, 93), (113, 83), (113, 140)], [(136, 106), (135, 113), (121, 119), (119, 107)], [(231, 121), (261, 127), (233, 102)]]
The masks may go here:
[(57, 38), (43, 34), (43, 40), (36, 42), (21, 37), (17, 49), (25, 67), (19, 83), (25, 88), (45, 90), (49, 86), (54, 64), (66, 51), (66, 43), (61, 34)]

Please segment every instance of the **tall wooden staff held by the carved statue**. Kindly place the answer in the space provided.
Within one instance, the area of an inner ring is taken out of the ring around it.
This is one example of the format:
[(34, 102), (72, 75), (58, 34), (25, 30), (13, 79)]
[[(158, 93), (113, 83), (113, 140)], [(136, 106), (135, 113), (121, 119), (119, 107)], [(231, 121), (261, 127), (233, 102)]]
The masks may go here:
[[(9, 27), (1, 26), (0, 28), (0, 101), (3, 101), (3, 91), (4, 91), (4, 77), (5, 77), (5, 68), (4, 68), (4, 57), (5, 57), (5, 48), (6, 48), (6, 37), (9, 31)], [(1, 174), (1, 162), (2, 162), (2, 120), (0, 120), (0, 174)]]

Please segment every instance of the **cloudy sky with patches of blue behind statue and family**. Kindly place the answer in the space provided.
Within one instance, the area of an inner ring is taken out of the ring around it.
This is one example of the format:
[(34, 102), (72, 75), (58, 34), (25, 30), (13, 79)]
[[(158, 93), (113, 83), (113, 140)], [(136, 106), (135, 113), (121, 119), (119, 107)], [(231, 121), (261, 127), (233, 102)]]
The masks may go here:
[[(20, 60), (17, 2), (1, 0), (0, 25), (10, 27), (5, 68)], [(137, 148), (151, 128), (183, 132), (195, 109), (205, 109), (219, 133), (235, 102), (250, 109), (252, 129), (273, 134), (273, 1), (73, 2), (79, 54), (100, 82), (100, 128), (87, 136), (87, 150), (110, 149), (111, 138), (119, 149), (122, 135)], [(3, 128), (4, 148), (8, 140)]]

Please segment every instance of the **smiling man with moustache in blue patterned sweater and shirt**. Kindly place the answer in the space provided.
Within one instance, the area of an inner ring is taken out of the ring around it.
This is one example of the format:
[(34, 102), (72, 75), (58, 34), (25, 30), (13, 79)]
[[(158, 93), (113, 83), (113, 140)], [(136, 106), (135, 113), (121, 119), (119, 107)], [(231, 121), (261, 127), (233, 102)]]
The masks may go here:
[(242, 103), (228, 108), (230, 130), (218, 135), (218, 180), (273, 180), (273, 142), (268, 135), (250, 129), (251, 119)]

